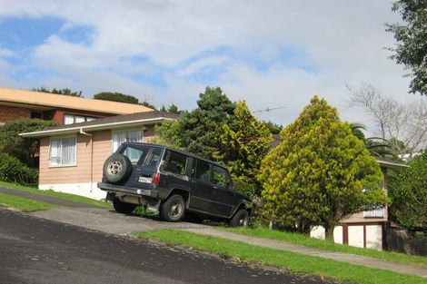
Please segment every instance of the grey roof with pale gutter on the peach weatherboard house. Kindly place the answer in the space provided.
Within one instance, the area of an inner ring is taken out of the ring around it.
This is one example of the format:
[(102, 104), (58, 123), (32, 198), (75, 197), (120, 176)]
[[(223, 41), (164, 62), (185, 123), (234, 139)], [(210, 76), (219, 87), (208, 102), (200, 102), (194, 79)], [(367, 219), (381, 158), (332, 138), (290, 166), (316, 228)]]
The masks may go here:
[(177, 117), (177, 114), (159, 111), (131, 113), (105, 117), (92, 122), (59, 125), (46, 128), (42, 131), (21, 133), (20, 135), (23, 137), (45, 137), (77, 132), (94, 132), (106, 129), (133, 127), (141, 124), (155, 124), (163, 122), (164, 120), (175, 120)]

